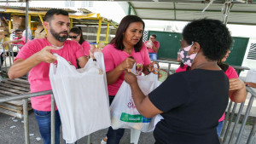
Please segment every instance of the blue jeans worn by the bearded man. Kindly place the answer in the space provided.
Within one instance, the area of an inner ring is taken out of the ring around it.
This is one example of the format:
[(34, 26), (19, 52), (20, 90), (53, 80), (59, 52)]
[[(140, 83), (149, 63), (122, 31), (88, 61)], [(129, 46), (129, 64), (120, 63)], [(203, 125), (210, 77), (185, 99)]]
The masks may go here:
[[(38, 111), (34, 109), (40, 134), (44, 144), (50, 144), (50, 112)], [(58, 111), (55, 111), (55, 144), (60, 143), (61, 118)]]

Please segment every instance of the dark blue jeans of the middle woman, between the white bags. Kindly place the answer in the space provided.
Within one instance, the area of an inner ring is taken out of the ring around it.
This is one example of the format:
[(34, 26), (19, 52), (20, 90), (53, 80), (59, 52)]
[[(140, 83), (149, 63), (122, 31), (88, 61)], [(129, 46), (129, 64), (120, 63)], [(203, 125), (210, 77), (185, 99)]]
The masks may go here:
[[(109, 105), (111, 105), (113, 98), (114, 96), (109, 95)], [(124, 133), (125, 129), (113, 130), (112, 127), (109, 127), (107, 134), (107, 144), (119, 144), (119, 141), (123, 137)]]

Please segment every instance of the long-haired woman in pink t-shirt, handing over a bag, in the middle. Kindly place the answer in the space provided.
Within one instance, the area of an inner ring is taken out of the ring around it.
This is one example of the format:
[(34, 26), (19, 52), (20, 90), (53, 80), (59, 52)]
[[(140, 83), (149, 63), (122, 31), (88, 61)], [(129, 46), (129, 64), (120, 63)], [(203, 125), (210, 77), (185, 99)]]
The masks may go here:
[[(113, 40), (102, 50), (108, 81), (109, 103), (111, 104), (124, 81), (124, 72), (136, 65), (136, 75), (154, 71), (148, 50), (143, 43), (144, 22), (136, 15), (127, 15), (121, 20)], [(117, 144), (125, 130), (109, 127), (102, 144)]]

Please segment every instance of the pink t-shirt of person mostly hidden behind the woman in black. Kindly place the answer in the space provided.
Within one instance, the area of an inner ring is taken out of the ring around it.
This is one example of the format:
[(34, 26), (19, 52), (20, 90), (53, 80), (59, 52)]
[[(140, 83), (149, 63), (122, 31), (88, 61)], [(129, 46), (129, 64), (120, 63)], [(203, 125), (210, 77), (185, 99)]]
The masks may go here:
[[(177, 70), (175, 72), (184, 72), (186, 71), (186, 68), (188, 66), (184, 65), (183, 67), (178, 67)], [(227, 69), (226, 72), (224, 72), (226, 74), (226, 76), (231, 79), (231, 78), (238, 78), (238, 75), (236, 73), (236, 70), (232, 67), (232, 66), (229, 66), (229, 68)], [(224, 114), (221, 116), (221, 118), (218, 119), (218, 122), (221, 122), (223, 121), (225, 118), (225, 112)]]

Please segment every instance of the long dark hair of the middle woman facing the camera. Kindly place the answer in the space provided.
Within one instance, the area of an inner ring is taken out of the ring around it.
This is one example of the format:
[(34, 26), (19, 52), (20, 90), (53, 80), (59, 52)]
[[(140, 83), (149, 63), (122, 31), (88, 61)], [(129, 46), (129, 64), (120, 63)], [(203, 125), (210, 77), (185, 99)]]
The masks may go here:
[[(119, 49), (119, 50), (124, 50), (125, 49), (125, 45), (123, 43), (123, 39), (124, 39), (124, 33), (127, 29), (127, 27), (133, 23), (133, 22), (141, 22), (143, 23), (143, 31), (144, 31), (144, 21), (136, 16), (136, 15), (126, 15), (120, 22), (119, 24), (119, 28), (116, 31), (115, 37), (111, 40), (110, 43), (115, 44), (115, 48)], [(141, 37), (141, 39), (139, 40), (139, 42), (134, 46), (134, 50), (136, 52), (139, 52), (143, 47), (143, 37)]]

